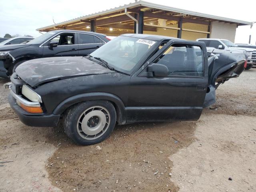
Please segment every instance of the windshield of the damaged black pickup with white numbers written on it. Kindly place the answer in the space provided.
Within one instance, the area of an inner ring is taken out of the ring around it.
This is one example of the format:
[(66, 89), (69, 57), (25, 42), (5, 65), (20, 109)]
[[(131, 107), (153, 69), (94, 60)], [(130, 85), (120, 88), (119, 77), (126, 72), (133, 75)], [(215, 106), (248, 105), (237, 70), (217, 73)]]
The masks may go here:
[(115, 70), (131, 74), (138, 62), (152, 49), (156, 41), (118, 36), (90, 56), (101, 58)]

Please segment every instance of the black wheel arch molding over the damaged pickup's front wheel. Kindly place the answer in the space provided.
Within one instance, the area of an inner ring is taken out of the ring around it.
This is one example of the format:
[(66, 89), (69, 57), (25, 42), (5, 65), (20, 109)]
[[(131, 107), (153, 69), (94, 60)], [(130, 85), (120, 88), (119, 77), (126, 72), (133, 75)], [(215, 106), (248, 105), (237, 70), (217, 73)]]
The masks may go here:
[(62, 114), (68, 107), (77, 104), (79, 102), (84, 102), (88, 100), (108, 100), (114, 104), (116, 108), (116, 121), (118, 124), (125, 124), (126, 123), (126, 110), (124, 107), (124, 103), (122, 100), (110, 93), (105, 92), (92, 92), (92, 93), (83, 93), (72, 96), (67, 98), (66, 100), (62, 101), (58, 106), (54, 109), (53, 114)]

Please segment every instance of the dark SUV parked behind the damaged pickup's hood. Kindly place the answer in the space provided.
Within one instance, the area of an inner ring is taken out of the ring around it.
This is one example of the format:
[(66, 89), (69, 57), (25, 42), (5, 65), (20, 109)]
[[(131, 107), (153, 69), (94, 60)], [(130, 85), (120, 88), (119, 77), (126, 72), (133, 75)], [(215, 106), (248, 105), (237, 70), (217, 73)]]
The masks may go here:
[(10, 76), (18, 65), (27, 60), (56, 56), (86, 56), (108, 41), (104, 34), (56, 30), (26, 44), (6, 45), (0, 48), (0, 77)]

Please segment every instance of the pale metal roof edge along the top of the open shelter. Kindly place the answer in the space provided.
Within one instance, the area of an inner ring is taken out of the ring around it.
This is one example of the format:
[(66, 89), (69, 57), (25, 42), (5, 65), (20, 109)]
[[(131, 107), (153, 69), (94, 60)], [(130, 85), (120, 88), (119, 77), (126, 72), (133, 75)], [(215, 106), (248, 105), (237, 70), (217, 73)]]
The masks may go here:
[(180, 14), (189, 14), (191, 16), (199, 16), (199, 17), (210, 18), (210, 19), (215, 19), (215, 20), (222, 20), (222, 21), (226, 21), (226, 22), (233, 22), (233, 23), (244, 24), (244, 25), (252, 25), (252, 22), (236, 20), (236, 19), (231, 19), (231, 18), (225, 18), (225, 17), (220, 17), (220, 16), (214, 16), (214, 15), (210, 15), (210, 14), (204, 14), (204, 13), (184, 10), (184, 9), (180, 9), (180, 8), (174, 8), (174, 7), (169, 7), (169, 6), (165, 6), (165, 5), (159, 5), (159, 4), (150, 3), (150, 2), (146, 2), (146, 1), (138, 1), (138, 2), (135, 2), (135, 3), (125, 4), (124, 6), (119, 6), (119, 7), (115, 7), (115, 8), (112, 8), (112, 9), (108, 9), (108, 10), (105, 10), (105, 11), (96, 12), (96, 13), (93, 13), (93, 14), (88, 14), (86, 16), (81, 16), (81, 17), (71, 19), (71, 20), (68, 20), (68, 21), (64, 21), (64, 22), (60, 22), (60, 23), (57, 23), (57, 24), (54, 24), (54, 25), (38, 28), (36, 30), (40, 31), (40, 30), (45, 30), (45, 29), (48, 29), (48, 28), (53, 28), (53, 27), (59, 26), (59, 25), (69, 24), (69, 23), (76, 22), (76, 21), (79, 21), (79, 20), (88, 20), (88, 19), (96, 17), (96, 16), (102, 16), (103, 17), (104, 14), (109, 14), (109, 13), (112, 13), (112, 12), (117, 12), (117, 11), (120, 11), (120, 10), (124, 10), (124, 8), (135, 8), (135, 7), (138, 7), (138, 6), (144, 6), (144, 7), (148, 7), (148, 8), (160, 9), (160, 10), (165, 10), (165, 11), (170, 11), (170, 12), (177, 12), (177, 13), (180, 13)]

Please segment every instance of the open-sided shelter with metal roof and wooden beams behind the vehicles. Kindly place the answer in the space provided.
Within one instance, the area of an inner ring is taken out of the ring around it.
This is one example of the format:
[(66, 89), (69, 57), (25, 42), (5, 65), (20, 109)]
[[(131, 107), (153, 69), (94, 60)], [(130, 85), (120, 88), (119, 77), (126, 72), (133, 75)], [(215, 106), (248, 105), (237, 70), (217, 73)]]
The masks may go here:
[(83, 30), (108, 36), (137, 32), (187, 40), (225, 38), (234, 42), (236, 28), (251, 24), (251, 22), (138, 1), (37, 30), (40, 32), (59, 29)]

